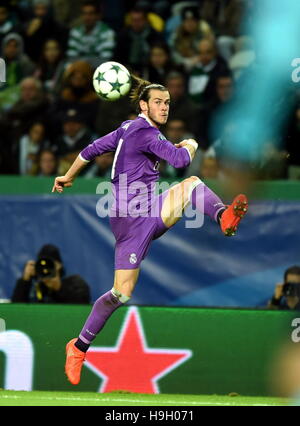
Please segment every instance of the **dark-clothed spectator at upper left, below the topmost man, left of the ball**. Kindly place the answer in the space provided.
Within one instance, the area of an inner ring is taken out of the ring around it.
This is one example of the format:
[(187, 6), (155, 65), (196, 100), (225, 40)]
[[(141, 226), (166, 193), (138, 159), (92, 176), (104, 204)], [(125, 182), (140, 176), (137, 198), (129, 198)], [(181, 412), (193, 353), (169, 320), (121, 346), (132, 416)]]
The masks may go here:
[(43, 82), (48, 91), (54, 90), (58, 66), (63, 59), (62, 47), (57, 40), (47, 40), (35, 72), (35, 77)]

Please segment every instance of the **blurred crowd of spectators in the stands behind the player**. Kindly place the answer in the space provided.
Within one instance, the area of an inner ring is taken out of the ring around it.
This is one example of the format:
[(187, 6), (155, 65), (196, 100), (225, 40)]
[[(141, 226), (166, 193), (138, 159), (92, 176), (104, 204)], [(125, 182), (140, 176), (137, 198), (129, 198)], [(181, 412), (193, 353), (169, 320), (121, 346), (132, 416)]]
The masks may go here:
[[(87, 144), (136, 117), (127, 97), (111, 103), (93, 90), (95, 67), (115, 60), (168, 88), (168, 140), (199, 142), (189, 169), (162, 163), (162, 177), (222, 179), (227, 111), (256, 63), (252, 11), (253, 0), (0, 0), (0, 174), (64, 174)], [(257, 179), (300, 178), (296, 89), (281, 139), (270, 137), (253, 166)], [(112, 162), (103, 155), (83, 176), (108, 177)]]

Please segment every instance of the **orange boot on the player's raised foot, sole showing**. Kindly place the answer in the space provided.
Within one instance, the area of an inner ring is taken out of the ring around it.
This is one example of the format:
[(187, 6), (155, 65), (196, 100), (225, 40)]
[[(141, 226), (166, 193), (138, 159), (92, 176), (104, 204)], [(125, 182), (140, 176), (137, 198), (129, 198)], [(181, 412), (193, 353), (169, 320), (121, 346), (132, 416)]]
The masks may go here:
[(230, 206), (221, 216), (220, 225), (226, 237), (233, 237), (237, 231), (238, 224), (248, 211), (248, 199), (246, 195), (240, 194), (235, 197)]

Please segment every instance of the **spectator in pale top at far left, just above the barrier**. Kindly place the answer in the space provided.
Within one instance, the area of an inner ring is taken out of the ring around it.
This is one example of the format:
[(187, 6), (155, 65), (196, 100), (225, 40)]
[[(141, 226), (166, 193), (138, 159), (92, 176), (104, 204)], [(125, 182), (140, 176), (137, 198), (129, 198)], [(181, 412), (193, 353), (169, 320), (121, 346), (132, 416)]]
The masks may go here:
[(28, 134), (21, 137), (19, 142), (19, 174), (35, 175), (38, 170), (38, 154), (49, 145), (46, 141), (45, 125), (33, 123)]

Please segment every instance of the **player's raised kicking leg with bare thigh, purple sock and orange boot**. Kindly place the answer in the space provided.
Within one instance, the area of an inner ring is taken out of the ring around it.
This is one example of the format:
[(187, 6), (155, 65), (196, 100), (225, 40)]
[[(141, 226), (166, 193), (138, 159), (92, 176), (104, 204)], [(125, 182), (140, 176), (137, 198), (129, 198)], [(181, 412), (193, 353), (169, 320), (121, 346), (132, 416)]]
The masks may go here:
[(191, 176), (172, 187), (163, 202), (161, 218), (166, 227), (173, 226), (182, 217), (184, 208), (190, 202), (197, 210), (220, 223), (226, 236), (235, 235), (240, 220), (248, 210), (245, 195), (238, 195), (230, 206), (225, 206), (197, 176)]

